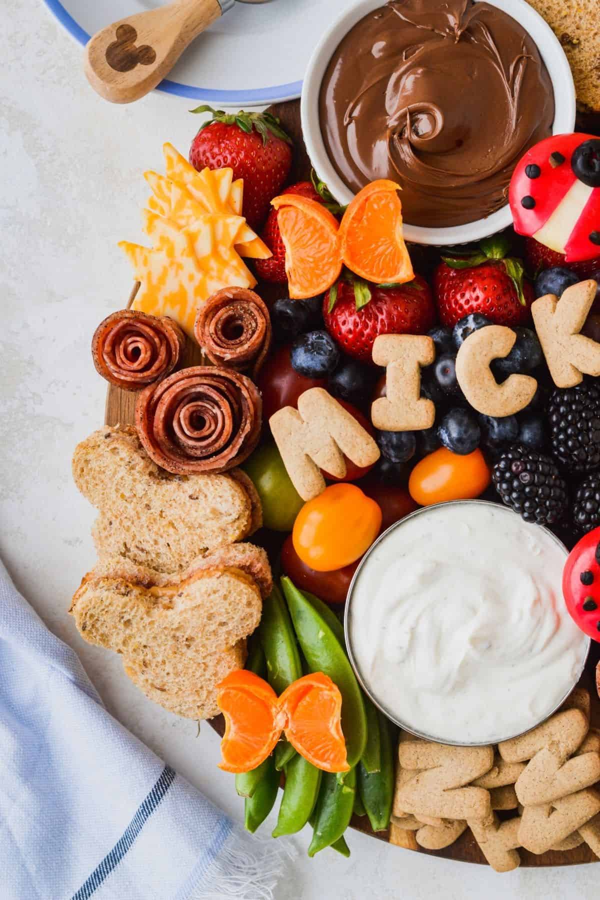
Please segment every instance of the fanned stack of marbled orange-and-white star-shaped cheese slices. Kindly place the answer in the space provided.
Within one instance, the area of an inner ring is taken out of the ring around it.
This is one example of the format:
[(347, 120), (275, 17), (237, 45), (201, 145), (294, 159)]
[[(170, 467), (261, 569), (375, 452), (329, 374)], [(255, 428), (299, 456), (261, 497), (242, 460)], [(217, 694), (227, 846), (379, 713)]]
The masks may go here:
[(244, 184), (233, 181), (230, 168), (196, 172), (170, 144), (165, 158), (166, 176), (145, 174), (152, 196), (143, 229), (152, 247), (129, 241), (119, 246), (140, 282), (132, 308), (170, 316), (193, 338), (198, 309), (211, 294), (255, 286), (240, 253), (271, 254), (240, 215)]

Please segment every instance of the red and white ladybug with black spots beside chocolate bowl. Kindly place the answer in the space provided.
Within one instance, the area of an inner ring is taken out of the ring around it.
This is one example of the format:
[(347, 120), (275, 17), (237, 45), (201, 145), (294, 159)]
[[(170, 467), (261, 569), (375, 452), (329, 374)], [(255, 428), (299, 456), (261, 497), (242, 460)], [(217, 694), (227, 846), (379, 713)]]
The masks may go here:
[(508, 193), (515, 231), (567, 263), (600, 257), (600, 138), (552, 135), (528, 150)]

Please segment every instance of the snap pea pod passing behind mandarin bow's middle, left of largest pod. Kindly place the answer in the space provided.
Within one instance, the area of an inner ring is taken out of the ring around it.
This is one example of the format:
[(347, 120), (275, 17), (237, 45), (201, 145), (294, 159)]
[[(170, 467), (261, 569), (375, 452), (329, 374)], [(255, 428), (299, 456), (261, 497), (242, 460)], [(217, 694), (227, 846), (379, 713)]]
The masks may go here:
[[(276, 585), (264, 600), (258, 634), (266, 660), (267, 680), (279, 696), (292, 681), (302, 677), (302, 664), (290, 613)], [(275, 768), (281, 771), (295, 755), (291, 743), (283, 739), (275, 748)]]

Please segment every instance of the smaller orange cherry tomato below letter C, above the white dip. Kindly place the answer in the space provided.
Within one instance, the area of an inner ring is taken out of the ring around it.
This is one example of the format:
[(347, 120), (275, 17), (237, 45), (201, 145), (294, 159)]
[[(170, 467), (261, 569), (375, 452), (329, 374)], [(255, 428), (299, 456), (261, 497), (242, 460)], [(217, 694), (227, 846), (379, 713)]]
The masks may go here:
[(417, 463), (408, 479), (408, 491), (420, 506), (448, 500), (473, 500), (491, 481), (480, 450), (460, 456), (440, 447)]

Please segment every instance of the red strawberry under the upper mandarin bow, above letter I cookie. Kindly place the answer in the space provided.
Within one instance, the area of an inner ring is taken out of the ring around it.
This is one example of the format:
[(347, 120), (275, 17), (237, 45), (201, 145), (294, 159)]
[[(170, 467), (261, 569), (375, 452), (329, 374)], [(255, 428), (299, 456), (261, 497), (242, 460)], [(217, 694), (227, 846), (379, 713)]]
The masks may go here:
[(348, 275), (326, 293), (323, 318), (348, 356), (371, 363), (378, 335), (425, 334), (434, 324), (435, 309), (421, 275), (407, 284), (367, 284)]

